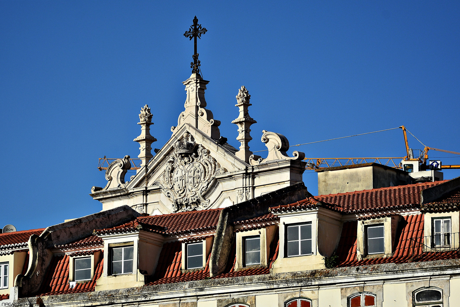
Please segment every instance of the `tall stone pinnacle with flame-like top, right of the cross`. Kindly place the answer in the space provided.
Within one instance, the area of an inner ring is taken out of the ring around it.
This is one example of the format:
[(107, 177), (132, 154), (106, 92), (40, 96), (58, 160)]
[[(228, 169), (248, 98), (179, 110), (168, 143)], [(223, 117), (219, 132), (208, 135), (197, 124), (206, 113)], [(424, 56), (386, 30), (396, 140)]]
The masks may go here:
[(249, 127), (256, 123), (256, 121), (249, 116), (247, 110), (247, 108), (252, 105), (249, 103), (250, 98), (251, 95), (249, 95), (246, 87), (242, 86), (238, 91), (238, 95), (236, 95), (237, 103), (235, 104), (235, 106), (240, 108), (240, 115), (232, 121), (232, 123), (238, 126), (238, 136), (236, 140), (241, 143), (240, 150), (235, 153), (235, 156), (246, 163), (249, 162), (249, 158), (253, 154), (253, 152), (249, 150), (248, 145), (249, 141), (253, 139), (251, 138), (251, 129)]

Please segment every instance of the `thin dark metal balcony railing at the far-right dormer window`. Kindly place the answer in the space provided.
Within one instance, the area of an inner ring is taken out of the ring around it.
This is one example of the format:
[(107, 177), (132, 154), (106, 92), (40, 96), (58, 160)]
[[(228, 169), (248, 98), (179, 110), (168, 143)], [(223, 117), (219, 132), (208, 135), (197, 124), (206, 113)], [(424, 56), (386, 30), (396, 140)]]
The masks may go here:
[(459, 254), (459, 232), (433, 234), (425, 237), (413, 237), (409, 240), (408, 250), (413, 258), (426, 255), (427, 253)]

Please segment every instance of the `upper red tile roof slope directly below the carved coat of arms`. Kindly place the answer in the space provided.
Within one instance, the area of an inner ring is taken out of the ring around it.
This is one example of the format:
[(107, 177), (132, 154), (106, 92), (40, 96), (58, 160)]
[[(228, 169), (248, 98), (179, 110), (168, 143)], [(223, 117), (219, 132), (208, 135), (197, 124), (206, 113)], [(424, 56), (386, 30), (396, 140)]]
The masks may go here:
[(95, 230), (94, 234), (132, 232), (139, 229), (163, 234), (176, 234), (213, 229), (216, 228), (219, 221), (220, 211), (222, 209), (141, 216), (120, 226)]

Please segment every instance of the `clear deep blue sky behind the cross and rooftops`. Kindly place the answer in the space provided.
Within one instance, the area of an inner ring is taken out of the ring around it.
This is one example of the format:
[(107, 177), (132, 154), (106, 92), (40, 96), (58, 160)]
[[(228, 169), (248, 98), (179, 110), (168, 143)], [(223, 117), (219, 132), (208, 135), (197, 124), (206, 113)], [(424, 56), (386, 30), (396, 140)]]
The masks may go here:
[[(245, 85), (253, 151), (265, 149), (262, 130), (294, 145), (401, 125), (460, 151), (460, 2), (405, 2), (0, 1), (0, 227), (101, 210), (88, 196), (106, 182), (98, 158), (138, 155), (144, 104), (161, 148), (184, 108), (193, 43), (183, 33), (195, 15), (208, 29), (198, 45), (207, 109), (231, 145)], [(296, 149), (405, 155), (400, 129)], [(316, 180), (305, 172), (313, 194)]]

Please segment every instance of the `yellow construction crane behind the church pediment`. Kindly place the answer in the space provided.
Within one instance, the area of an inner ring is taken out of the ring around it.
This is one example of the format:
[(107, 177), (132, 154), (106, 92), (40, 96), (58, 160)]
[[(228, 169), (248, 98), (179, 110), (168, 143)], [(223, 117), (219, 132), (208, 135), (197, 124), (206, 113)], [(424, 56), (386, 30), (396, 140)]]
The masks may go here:
[[(354, 165), (354, 164), (371, 163), (371, 162), (379, 163), (379, 164), (386, 165), (392, 168), (402, 169), (403, 165), (401, 161), (403, 160), (418, 161), (418, 163), (420, 163), (421, 165), (426, 165), (426, 160), (428, 159), (429, 150), (442, 151), (442, 152), (447, 152), (447, 153), (451, 153), (455, 155), (460, 155), (460, 152), (446, 151), (443, 149), (432, 148), (432, 147), (428, 147), (424, 145), (425, 149), (422, 151), (422, 154), (420, 155), (420, 157), (415, 158), (414, 154), (412, 153), (412, 150), (409, 148), (409, 145), (408, 145), (407, 133), (406, 133), (406, 131), (408, 130), (404, 126), (401, 126), (399, 128), (403, 129), (404, 144), (406, 145), (407, 156), (383, 157), (383, 158), (382, 157), (378, 157), (378, 158), (305, 158), (304, 161), (307, 162), (305, 169), (332, 168), (336, 166)], [(397, 128), (392, 128), (392, 129), (397, 129)], [(387, 129), (387, 130), (391, 130), (391, 129)], [(382, 130), (382, 131), (385, 131), (385, 130)], [(363, 133), (363, 134), (367, 134), (367, 133)], [(98, 169), (100, 171), (106, 170), (109, 167), (110, 163), (114, 162), (115, 160), (118, 160), (118, 159), (107, 158), (105, 156), (104, 158), (99, 158)], [(129, 159), (129, 160), (131, 162), (131, 169), (140, 168), (140, 164), (141, 164), (140, 159)], [(454, 168), (460, 168), (460, 165), (440, 165), (439, 168), (454, 169)]]

